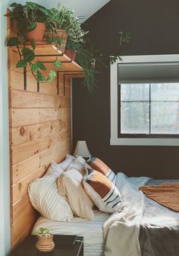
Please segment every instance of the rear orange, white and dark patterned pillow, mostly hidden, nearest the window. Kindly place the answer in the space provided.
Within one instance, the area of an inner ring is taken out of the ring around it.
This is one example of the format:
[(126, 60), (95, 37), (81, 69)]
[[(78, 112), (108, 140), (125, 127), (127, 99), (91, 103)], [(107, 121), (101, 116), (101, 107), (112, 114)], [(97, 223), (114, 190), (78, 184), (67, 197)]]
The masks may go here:
[(105, 165), (102, 160), (99, 158), (89, 158), (87, 161), (88, 165), (90, 165), (91, 168), (93, 168), (96, 171), (101, 172), (102, 174), (105, 175), (106, 178), (108, 178), (113, 184), (116, 183), (116, 175), (111, 169), (108, 167), (108, 165)]

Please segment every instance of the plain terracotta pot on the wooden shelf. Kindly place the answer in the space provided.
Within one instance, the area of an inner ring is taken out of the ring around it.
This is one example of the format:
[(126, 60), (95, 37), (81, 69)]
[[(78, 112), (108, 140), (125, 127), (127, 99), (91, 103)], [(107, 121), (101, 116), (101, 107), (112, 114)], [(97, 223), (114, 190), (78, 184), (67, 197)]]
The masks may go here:
[(46, 24), (42, 22), (36, 22), (36, 28), (32, 31), (27, 32), (27, 41), (35, 39), (37, 43), (42, 42), (45, 30)]

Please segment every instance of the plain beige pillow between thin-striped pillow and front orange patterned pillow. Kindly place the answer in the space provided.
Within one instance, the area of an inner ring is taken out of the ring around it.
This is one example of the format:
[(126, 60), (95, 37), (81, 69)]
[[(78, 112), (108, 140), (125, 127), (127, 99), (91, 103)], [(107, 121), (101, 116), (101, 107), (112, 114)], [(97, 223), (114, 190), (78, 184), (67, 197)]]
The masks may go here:
[(64, 197), (68, 198), (68, 203), (70, 203), (71, 210), (74, 212), (75, 216), (79, 216), (83, 219), (93, 219), (93, 202), (90, 200), (89, 196), (82, 185), (83, 175), (75, 169), (65, 171), (64, 174), (58, 178), (58, 193), (62, 194)]

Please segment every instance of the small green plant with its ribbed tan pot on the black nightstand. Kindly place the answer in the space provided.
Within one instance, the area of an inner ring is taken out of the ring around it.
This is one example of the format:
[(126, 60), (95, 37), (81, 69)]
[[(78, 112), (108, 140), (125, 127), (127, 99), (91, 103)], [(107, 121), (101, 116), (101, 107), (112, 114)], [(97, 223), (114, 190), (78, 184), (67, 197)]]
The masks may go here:
[(37, 235), (38, 241), (36, 242), (36, 248), (39, 251), (52, 251), (55, 248), (53, 242), (53, 235), (49, 233), (49, 229), (40, 228), (34, 232)]

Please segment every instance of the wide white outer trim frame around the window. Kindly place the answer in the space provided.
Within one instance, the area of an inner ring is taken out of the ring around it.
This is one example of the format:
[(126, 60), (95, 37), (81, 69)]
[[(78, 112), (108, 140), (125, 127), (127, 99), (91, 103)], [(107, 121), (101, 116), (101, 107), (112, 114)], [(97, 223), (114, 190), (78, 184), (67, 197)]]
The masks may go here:
[[(178, 62), (179, 54), (122, 56), (123, 63)], [(118, 63), (111, 65), (111, 146), (179, 146), (174, 138), (119, 138), (118, 137)]]

